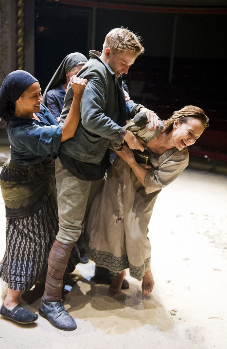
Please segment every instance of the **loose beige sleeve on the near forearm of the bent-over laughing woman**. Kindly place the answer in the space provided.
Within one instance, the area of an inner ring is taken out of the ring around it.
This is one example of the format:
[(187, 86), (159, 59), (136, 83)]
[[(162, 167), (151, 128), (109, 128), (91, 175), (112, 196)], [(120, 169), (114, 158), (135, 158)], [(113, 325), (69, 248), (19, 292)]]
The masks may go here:
[(146, 194), (156, 192), (173, 182), (188, 166), (188, 159), (188, 149), (178, 150), (167, 162), (155, 170), (147, 171), (144, 185)]

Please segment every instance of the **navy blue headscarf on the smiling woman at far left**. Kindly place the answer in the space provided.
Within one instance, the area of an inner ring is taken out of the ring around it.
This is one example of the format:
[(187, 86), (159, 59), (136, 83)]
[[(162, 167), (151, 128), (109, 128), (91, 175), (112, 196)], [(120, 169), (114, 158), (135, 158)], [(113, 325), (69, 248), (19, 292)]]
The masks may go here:
[(27, 88), (38, 81), (24, 70), (15, 70), (6, 76), (0, 88), (0, 110), (6, 109), (23, 94)]

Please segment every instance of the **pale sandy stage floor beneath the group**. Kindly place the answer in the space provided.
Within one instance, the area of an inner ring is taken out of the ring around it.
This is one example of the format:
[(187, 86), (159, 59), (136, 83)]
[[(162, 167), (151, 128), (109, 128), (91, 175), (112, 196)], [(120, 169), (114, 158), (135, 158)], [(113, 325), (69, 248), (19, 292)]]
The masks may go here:
[[(79, 264), (65, 307), (76, 331), (39, 317), (22, 327), (0, 317), (0, 347), (77, 349), (227, 348), (227, 177), (185, 170), (159, 194), (149, 225), (155, 288), (127, 275), (130, 289), (117, 299), (90, 280), (94, 263)], [(0, 258), (5, 250), (5, 207), (0, 202)], [(2, 298), (6, 284), (1, 281)], [(22, 303), (37, 313), (42, 284)]]

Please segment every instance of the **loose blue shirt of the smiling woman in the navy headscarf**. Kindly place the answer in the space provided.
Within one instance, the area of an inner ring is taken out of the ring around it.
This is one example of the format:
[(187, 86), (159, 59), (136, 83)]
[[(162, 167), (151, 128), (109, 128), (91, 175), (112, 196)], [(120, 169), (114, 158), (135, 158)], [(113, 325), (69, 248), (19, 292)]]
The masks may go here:
[(8, 125), (11, 161), (17, 165), (36, 164), (58, 156), (61, 126), (45, 105), (36, 113), (40, 121), (13, 116)]

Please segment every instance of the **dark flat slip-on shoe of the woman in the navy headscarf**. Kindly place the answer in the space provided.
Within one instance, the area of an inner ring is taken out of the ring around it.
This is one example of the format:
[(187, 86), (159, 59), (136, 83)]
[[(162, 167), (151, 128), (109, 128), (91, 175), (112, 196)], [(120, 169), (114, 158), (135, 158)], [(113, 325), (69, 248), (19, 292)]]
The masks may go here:
[(31, 313), (20, 304), (17, 304), (13, 310), (9, 310), (2, 304), (0, 314), (9, 320), (15, 321), (18, 324), (30, 324), (37, 320), (38, 315)]

